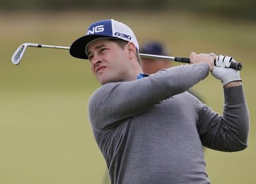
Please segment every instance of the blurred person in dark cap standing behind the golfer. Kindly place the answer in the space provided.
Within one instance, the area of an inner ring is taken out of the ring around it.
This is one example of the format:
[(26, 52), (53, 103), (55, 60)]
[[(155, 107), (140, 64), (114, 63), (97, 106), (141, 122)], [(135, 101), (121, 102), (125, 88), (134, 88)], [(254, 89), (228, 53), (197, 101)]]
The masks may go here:
[[(169, 55), (166, 47), (159, 41), (147, 41), (142, 48), (140, 53), (143, 54), (153, 54), (153, 55)], [(145, 74), (154, 74), (162, 69), (168, 69), (172, 67), (171, 62), (164, 59), (150, 59), (150, 58), (141, 58), (142, 70)], [(195, 91), (188, 90), (193, 96), (197, 97), (201, 102), (202, 98), (195, 93)]]

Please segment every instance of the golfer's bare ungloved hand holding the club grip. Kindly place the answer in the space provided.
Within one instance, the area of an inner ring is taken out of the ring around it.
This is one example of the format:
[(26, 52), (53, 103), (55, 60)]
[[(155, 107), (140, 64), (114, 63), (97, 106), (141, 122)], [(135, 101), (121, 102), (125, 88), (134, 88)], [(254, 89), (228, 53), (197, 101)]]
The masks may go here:
[(190, 62), (193, 63), (207, 63), (210, 67), (210, 71), (213, 70), (214, 60), (216, 59), (216, 55), (213, 54), (197, 54), (192, 52), (189, 56)]

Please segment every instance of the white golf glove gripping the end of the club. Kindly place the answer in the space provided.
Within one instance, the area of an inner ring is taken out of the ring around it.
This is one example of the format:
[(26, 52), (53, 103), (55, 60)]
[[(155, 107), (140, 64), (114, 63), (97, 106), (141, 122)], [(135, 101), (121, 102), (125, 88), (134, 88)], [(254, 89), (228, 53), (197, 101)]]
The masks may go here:
[(236, 62), (234, 58), (229, 57), (227, 55), (218, 55), (215, 63), (216, 66), (214, 66), (212, 70), (212, 75), (216, 79), (221, 80), (223, 86), (232, 81), (237, 81), (237, 80), (241, 81), (239, 70), (227, 68), (230, 66), (231, 61)]

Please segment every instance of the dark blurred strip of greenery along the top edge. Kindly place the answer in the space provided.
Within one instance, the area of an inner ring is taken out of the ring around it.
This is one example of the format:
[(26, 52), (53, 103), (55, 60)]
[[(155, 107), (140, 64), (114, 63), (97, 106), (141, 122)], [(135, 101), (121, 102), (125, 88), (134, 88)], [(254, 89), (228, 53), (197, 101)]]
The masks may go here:
[(97, 10), (178, 10), (256, 20), (256, 0), (0, 0), (5, 10), (63, 10), (83, 8)]

